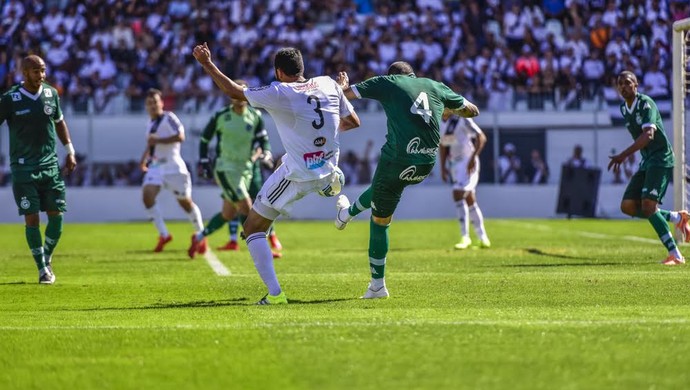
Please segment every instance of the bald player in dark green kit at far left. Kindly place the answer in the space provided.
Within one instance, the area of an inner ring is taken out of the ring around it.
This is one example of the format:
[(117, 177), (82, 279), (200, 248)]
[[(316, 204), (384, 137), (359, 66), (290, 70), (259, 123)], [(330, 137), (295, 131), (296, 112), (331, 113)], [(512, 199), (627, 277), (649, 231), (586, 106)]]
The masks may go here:
[[(52, 257), (62, 235), (62, 213), (67, 210), (65, 182), (55, 151), (56, 135), (67, 151), (64, 168), (72, 172), (77, 160), (57, 90), (45, 82), (45, 62), (30, 55), (21, 66), (24, 82), (0, 97), (0, 124), (7, 121), (10, 128), (12, 192), (19, 215), (24, 216), (26, 242), (38, 267), (38, 282), (53, 284)], [(40, 211), (48, 215), (45, 243)]]

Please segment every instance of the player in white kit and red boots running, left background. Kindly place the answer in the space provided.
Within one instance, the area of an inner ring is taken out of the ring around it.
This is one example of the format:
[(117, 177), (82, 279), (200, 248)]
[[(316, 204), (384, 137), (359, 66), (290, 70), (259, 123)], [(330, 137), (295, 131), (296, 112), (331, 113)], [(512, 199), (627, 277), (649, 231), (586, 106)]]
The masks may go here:
[[(161, 187), (171, 191), (177, 202), (189, 216), (194, 231), (204, 229), (201, 211), (192, 201), (192, 181), (187, 166), (180, 155), (180, 144), (184, 141), (184, 126), (171, 111), (163, 111), (163, 93), (150, 89), (146, 94), (146, 111), (151, 117), (146, 131), (146, 150), (141, 156), (141, 170), (144, 175), (143, 198), (146, 211), (158, 230), (158, 244), (153, 250), (160, 252), (172, 241), (172, 235), (163, 221), (156, 197)], [(206, 241), (198, 244), (199, 253), (206, 252)]]

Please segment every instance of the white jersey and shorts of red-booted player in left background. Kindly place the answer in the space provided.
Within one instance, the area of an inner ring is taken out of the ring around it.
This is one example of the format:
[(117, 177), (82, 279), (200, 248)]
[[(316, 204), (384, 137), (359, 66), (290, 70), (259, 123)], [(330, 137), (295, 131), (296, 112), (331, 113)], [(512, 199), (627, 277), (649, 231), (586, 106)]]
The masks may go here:
[[(149, 122), (146, 135), (156, 134), (160, 138), (184, 134), (184, 126), (177, 116), (164, 111), (163, 115)], [(180, 155), (180, 143), (157, 144), (150, 149), (150, 162), (144, 175), (143, 185), (162, 186), (173, 192), (177, 198), (192, 196), (192, 181), (187, 166)]]

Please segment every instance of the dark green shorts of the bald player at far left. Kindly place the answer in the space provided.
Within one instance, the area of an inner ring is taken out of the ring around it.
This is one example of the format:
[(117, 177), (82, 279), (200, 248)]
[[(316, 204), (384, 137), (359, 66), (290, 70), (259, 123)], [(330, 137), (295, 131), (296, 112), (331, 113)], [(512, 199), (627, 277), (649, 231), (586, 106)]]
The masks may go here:
[(12, 172), (12, 193), (19, 215), (67, 211), (65, 181), (57, 166), (30, 172)]

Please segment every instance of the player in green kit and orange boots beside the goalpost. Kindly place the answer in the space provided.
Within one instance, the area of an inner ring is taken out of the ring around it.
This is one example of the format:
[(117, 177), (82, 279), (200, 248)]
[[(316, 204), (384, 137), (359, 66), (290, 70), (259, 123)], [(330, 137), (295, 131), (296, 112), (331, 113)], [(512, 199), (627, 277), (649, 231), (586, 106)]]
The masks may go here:
[(628, 156), (638, 150), (642, 155), (640, 168), (630, 178), (623, 194), (621, 211), (631, 217), (646, 218), (652, 224), (668, 250), (668, 257), (662, 261), (663, 264), (684, 264), (685, 259), (676, 246), (668, 221), (676, 224), (684, 241), (688, 242), (688, 212), (667, 211), (658, 207), (673, 176), (674, 164), (673, 149), (666, 138), (659, 109), (652, 98), (637, 92), (637, 77), (634, 73), (623, 71), (618, 75), (616, 82), (618, 92), (624, 100), (621, 104), (621, 114), (625, 119), (625, 127), (635, 142), (619, 154), (609, 156), (611, 161), (608, 169), (618, 172)]

